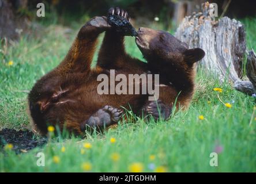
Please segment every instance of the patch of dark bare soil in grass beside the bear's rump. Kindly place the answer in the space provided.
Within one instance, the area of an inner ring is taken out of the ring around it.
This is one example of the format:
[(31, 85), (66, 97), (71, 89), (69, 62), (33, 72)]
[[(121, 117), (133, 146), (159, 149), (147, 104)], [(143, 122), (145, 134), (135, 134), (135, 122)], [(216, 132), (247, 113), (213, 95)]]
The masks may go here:
[(35, 147), (41, 147), (47, 142), (47, 137), (35, 136), (31, 131), (16, 131), (15, 129), (2, 129), (0, 131), (0, 151), (5, 144), (13, 144), (13, 150), (19, 154)]

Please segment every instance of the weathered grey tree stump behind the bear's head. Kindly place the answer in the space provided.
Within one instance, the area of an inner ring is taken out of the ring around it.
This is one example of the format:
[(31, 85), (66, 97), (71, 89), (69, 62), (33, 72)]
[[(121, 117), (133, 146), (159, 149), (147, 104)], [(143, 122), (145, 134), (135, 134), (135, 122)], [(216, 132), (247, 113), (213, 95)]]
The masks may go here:
[(250, 81), (242, 81), (242, 64), (246, 55), (246, 34), (241, 22), (228, 17), (218, 21), (210, 16), (212, 7), (202, 4), (202, 12), (185, 17), (176, 30), (175, 36), (190, 48), (204, 49), (205, 57), (201, 66), (213, 72), (220, 82), (228, 79), (234, 88), (252, 95), (256, 89), (256, 56), (249, 52), (246, 74)]

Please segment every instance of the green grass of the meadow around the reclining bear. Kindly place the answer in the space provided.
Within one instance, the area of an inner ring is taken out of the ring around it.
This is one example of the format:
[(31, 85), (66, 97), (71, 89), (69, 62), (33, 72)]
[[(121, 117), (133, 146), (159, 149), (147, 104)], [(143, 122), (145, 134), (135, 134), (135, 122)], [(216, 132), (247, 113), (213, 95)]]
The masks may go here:
[[(256, 18), (244, 21), (249, 47), (254, 48), (255, 21)], [(0, 128), (29, 128), (27, 91), (63, 59), (77, 30), (67, 34), (59, 26), (50, 26), (40, 39), (22, 37), (18, 43), (1, 48)], [(133, 38), (127, 38), (126, 45), (127, 52), (142, 59)], [(13, 60), (13, 66), (8, 66), (9, 60)], [(221, 104), (214, 87), (223, 89), (220, 98), (231, 103), (232, 108)], [(0, 152), (0, 171), (84, 171), (81, 164), (90, 163), (90, 171), (123, 172), (138, 162), (143, 166), (142, 171), (148, 172), (155, 171), (149, 165), (163, 166), (168, 172), (255, 172), (253, 107), (253, 97), (235, 91), (229, 83), (220, 84), (216, 77), (199, 70), (197, 90), (189, 110), (175, 113), (169, 121), (119, 122), (116, 128), (84, 140), (60, 136), (50, 139), (43, 148), (27, 153)], [(204, 120), (199, 120), (199, 115)], [(110, 142), (111, 137), (116, 139), (115, 143)], [(87, 142), (91, 143), (91, 149), (83, 148)], [(62, 147), (65, 152), (61, 152)], [(219, 166), (212, 167), (209, 155), (216, 147), (223, 150), (218, 155)], [(84, 154), (81, 149), (85, 150)], [(36, 164), (37, 152), (45, 154), (44, 167)], [(113, 153), (120, 156), (116, 162), (111, 159)], [(150, 160), (150, 155), (155, 155), (155, 159)], [(59, 163), (53, 162), (54, 156), (59, 157)]]

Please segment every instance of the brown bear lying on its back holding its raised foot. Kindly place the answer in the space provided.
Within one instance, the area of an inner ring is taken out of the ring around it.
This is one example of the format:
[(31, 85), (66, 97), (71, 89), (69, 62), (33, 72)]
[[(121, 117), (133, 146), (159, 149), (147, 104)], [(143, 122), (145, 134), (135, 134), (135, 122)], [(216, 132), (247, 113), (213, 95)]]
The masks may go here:
[[(129, 21), (126, 11), (111, 8), (109, 14)], [(91, 68), (97, 37), (105, 32), (96, 68)], [(28, 95), (33, 129), (46, 134), (48, 125), (81, 135), (86, 127), (102, 131), (116, 124), (122, 107), (137, 115), (152, 114), (168, 118), (172, 106), (187, 107), (194, 92), (194, 63), (204, 57), (202, 49), (188, 49), (170, 33), (140, 28), (135, 43), (148, 63), (125, 52), (124, 36), (110, 26), (106, 17), (94, 17), (77, 34), (65, 59), (44, 75)], [(97, 76), (118, 74), (159, 74), (159, 99), (148, 101), (149, 94), (99, 94)]]

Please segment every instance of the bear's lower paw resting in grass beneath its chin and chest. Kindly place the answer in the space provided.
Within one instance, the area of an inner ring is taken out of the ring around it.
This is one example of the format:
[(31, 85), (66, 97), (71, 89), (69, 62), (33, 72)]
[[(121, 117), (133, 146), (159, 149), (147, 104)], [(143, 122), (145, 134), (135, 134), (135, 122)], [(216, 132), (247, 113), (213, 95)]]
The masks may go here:
[(155, 120), (158, 120), (160, 117), (163, 120), (167, 120), (172, 112), (172, 108), (163, 104), (160, 99), (150, 102), (149, 105), (146, 106), (145, 110), (146, 114), (151, 114)]

